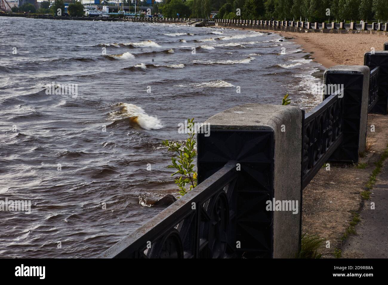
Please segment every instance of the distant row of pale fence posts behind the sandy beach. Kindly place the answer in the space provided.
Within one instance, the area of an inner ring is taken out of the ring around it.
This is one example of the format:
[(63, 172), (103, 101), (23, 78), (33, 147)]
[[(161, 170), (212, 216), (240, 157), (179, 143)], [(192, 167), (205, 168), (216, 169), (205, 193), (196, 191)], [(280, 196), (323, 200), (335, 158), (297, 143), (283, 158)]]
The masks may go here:
[(246, 27), (253, 29), (272, 29), (280, 31), (318, 31), (322, 32), (345, 32), (346, 30), (352, 31), (382, 31), (386, 32), (388, 23), (386, 22), (373, 22), (368, 24), (367, 22), (331, 22), (331, 23), (318, 23), (318, 22), (303, 22), (303, 21), (264, 21), (264, 20), (237, 20), (237, 19), (215, 19), (216, 26), (236, 26)]

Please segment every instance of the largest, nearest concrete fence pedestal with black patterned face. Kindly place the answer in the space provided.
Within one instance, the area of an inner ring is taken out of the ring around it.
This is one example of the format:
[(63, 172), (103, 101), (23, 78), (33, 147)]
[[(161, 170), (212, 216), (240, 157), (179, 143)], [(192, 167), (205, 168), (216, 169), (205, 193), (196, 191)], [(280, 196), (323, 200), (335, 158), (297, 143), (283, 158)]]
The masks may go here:
[[(294, 258), (301, 238), (302, 110), (245, 104), (218, 113), (205, 123), (211, 131), (209, 136), (197, 135), (198, 182), (227, 161), (240, 164), (236, 165), (240, 169), (236, 242), (241, 243), (237, 250), (246, 252), (247, 257), (260, 256), (267, 249), (265, 257)], [(298, 203), (297, 213), (268, 211), (267, 201), (273, 200)]]

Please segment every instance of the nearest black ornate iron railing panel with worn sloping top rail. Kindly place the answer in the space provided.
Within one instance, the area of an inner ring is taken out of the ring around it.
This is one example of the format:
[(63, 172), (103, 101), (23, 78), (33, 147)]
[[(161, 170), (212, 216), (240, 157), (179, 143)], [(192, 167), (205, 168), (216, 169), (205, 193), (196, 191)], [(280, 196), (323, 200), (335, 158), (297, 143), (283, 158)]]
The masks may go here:
[(235, 161), (106, 250), (102, 258), (234, 257)]

